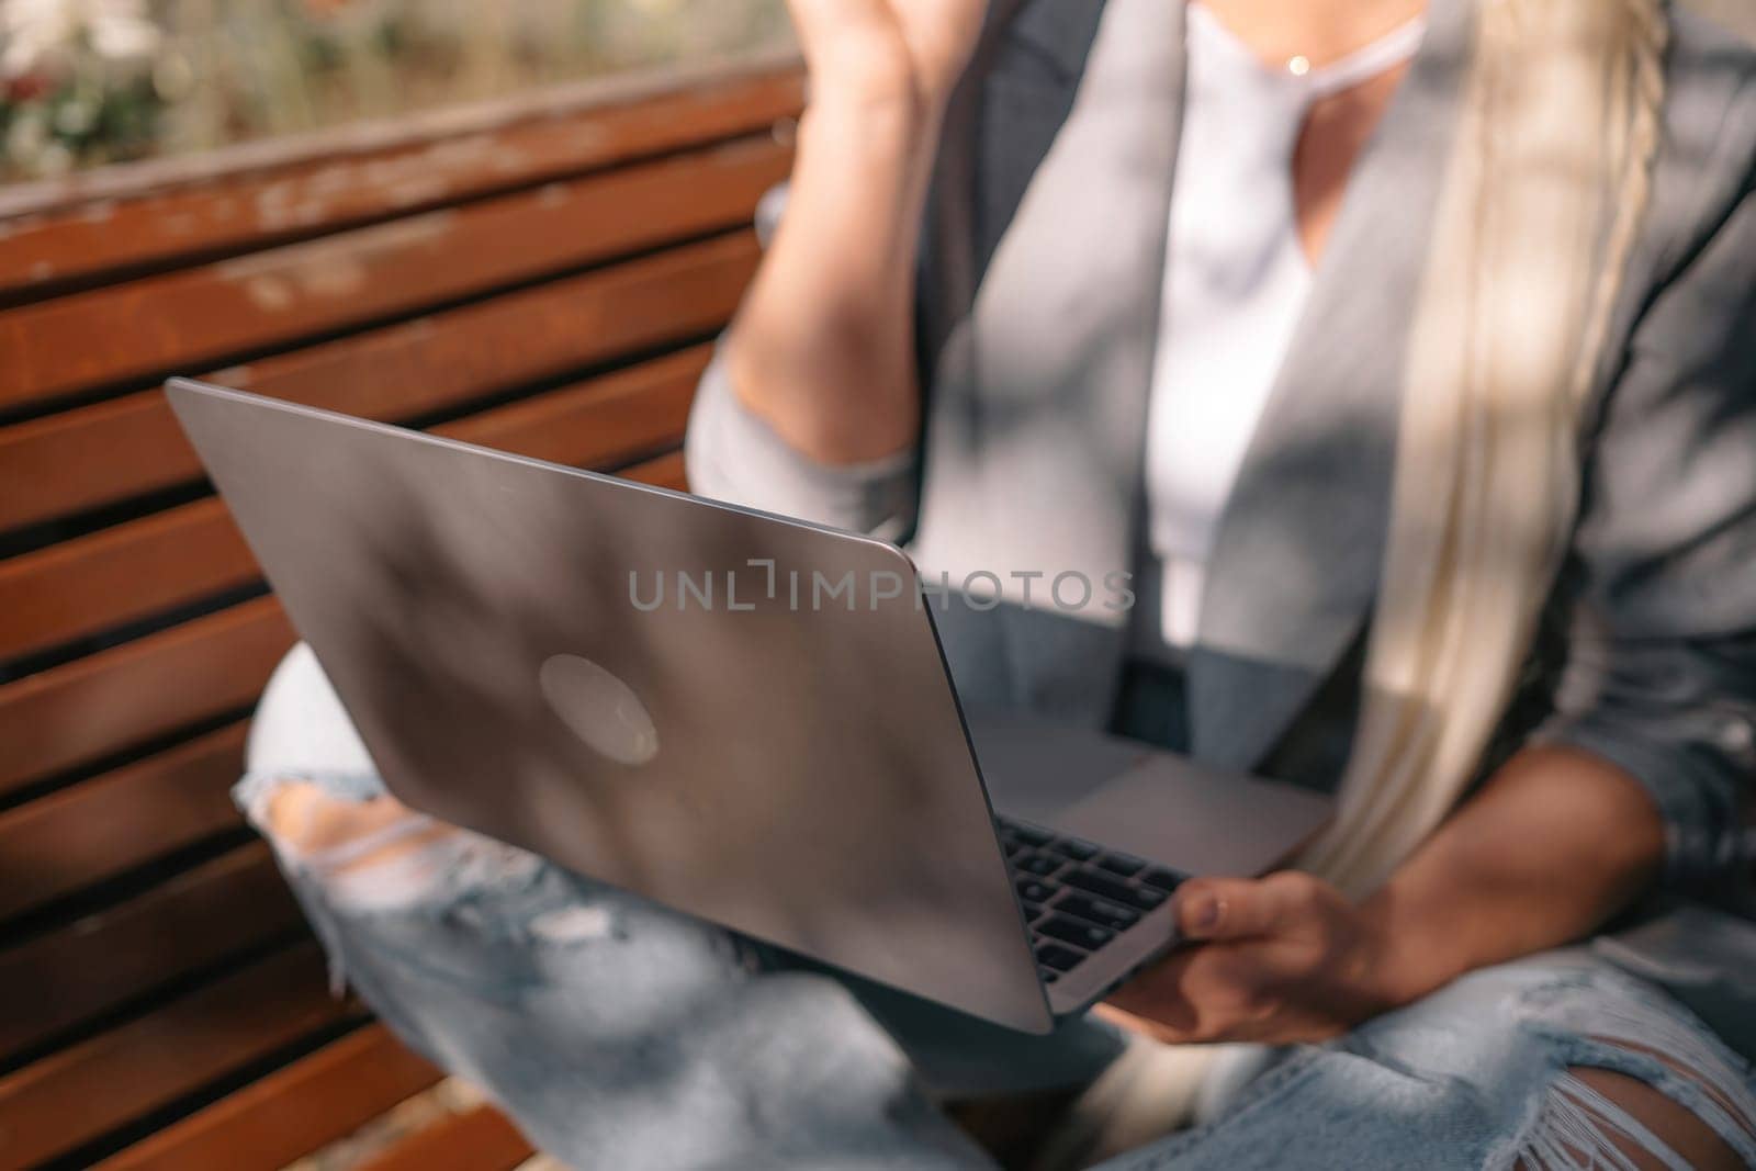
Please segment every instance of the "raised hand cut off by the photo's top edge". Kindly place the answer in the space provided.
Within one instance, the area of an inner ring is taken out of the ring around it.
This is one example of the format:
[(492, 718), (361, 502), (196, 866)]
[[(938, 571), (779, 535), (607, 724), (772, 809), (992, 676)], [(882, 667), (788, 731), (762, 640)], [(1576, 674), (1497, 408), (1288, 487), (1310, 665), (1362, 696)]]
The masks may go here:
[(788, 0), (811, 102), (943, 107), (969, 63), (989, 0)]

